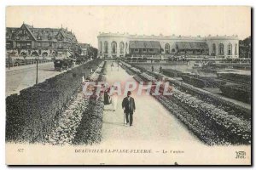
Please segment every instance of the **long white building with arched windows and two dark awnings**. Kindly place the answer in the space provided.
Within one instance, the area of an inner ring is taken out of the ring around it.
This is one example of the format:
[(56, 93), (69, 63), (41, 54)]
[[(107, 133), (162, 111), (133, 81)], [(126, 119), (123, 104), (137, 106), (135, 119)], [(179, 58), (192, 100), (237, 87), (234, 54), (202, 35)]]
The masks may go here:
[(177, 37), (172, 35), (164, 37), (100, 32), (97, 39), (98, 54), (108, 58), (136, 54), (210, 55), (218, 58), (238, 58), (239, 56), (237, 36)]

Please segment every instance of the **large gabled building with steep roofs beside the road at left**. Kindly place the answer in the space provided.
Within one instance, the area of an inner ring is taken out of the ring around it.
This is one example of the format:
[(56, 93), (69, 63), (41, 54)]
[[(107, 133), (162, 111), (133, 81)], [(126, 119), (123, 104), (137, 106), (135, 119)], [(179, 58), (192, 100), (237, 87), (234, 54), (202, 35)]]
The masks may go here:
[(6, 28), (6, 52), (12, 57), (69, 57), (78, 41), (67, 28), (34, 28), (26, 24)]

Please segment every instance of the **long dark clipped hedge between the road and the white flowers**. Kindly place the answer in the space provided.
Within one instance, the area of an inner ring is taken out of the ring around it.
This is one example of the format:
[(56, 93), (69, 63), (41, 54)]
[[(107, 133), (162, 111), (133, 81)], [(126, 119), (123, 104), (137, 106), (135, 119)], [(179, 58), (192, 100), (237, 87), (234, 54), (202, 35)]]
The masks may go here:
[(79, 92), (82, 76), (90, 75), (101, 60), (92, 60), (71, 71), (6, 98), (6, 141), (42, 142), (67, 102)]

